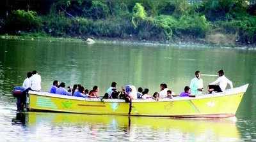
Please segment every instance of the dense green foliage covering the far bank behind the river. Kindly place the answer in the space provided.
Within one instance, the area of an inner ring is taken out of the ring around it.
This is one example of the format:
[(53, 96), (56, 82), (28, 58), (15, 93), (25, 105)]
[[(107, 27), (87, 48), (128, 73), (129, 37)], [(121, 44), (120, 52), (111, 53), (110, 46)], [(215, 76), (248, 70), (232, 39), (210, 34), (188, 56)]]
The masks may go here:
[(172, 41), (204, 39), (218, 31), (236, 34), (240, 43), (256, 43), (255, 9), (244, 0), (56, 0), (46, 15), (13, 10), (0, 19), (0, 32)]

